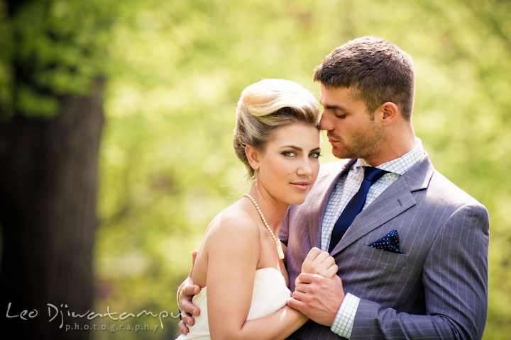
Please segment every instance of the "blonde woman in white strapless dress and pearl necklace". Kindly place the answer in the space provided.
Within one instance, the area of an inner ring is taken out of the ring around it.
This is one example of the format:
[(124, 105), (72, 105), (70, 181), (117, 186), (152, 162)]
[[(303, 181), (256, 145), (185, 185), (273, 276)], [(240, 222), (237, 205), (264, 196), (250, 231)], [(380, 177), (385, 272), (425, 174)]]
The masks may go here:
[[(233, 145), (252, 185), (207, 227), (182, 285), (201, 288), (192, 300), (200, 315), (177, 339), (285, 339), (307, 321), (287, 307), (278, 234), (289, 205), (302, 203), (316, 180), (318, 115), (314, 96), (295, 82), (264, 79), (243, 90)], [(331, 278), (337, 266), (316, 248), (302, 271)], [(182, 288), (178, 293), (180, 302)]]

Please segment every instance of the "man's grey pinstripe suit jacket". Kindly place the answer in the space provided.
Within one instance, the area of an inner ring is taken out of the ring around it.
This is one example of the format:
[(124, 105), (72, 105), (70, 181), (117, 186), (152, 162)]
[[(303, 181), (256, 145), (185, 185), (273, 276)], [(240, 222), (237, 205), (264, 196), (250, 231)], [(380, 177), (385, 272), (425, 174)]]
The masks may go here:
[[(302, 261), (320, 248), (321, 224), (336, 180), (354, 160), (322, 166), (302, 205), (292, 206), (287, 244), (290, 289)], [(331, 255), (346, 293), (361, 298), (351, 339), (478, 339), (488, 309), (488, 212), (439, 174), (425, 156), (353, 221)], [(392, 229), (404, 254), (371, 242)], [(312, 321), (290, 339), (339, 339)]]

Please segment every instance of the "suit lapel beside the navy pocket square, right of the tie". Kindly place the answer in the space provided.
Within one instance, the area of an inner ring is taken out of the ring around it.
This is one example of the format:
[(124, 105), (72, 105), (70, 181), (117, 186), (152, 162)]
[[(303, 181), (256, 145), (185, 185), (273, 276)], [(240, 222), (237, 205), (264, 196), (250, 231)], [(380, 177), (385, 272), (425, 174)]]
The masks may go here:
[(344, 237), (331, 251), (331, 255), (338, 254), (353, 242), (415, 205), (412, 192), (427, 188), (433, 172), (433, 165), (426, 154), (357, 215)]

